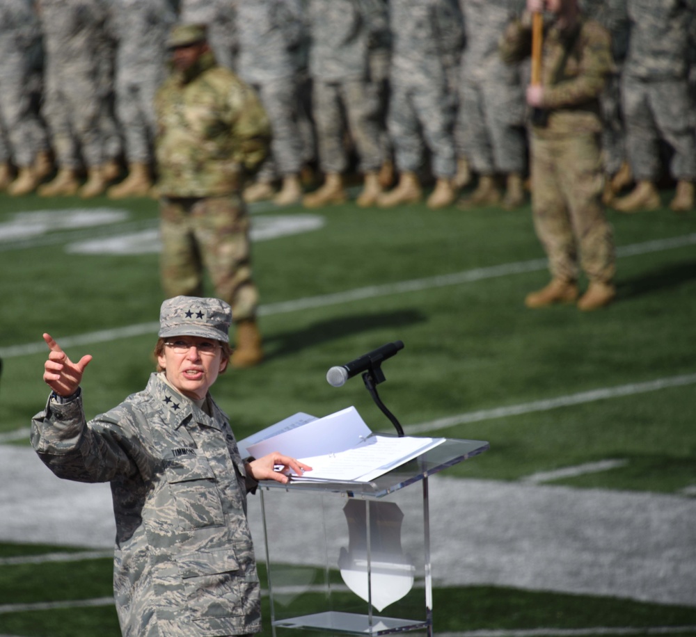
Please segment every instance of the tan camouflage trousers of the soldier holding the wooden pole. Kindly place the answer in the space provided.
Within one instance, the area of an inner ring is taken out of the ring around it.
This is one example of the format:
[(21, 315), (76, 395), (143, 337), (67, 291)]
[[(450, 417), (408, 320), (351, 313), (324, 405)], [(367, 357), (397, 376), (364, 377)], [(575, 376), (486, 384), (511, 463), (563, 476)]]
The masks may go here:
[(551, 275), (590, 281), (615, 275), (612, 227), (601, 204), (604, 177), (596, 135), (539, 138), (532, 132), (532, 212)]

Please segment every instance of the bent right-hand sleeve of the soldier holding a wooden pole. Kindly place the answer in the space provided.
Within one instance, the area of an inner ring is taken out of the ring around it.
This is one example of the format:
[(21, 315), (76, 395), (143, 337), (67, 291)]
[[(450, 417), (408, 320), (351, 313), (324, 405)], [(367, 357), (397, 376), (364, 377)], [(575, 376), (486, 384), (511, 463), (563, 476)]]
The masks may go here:
[(589, 26), (580, 34), (582, 59), (580, 72), (553, 86), (544, 87), (544, 108), (580, 106), (599, 97), (613, 63), (608, 32), (599, 24)]

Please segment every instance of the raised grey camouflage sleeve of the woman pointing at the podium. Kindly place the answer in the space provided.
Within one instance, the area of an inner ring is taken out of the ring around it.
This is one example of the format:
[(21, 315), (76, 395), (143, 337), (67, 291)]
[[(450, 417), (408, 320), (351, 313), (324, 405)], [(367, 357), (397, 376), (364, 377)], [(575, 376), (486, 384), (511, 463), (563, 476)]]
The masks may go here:
[(109, 482), (137, 470), (108, 417), (88, 423), (82, 398), (58, 404), (51, 398), (31, 421), (31, 445), (58, 476), (78, 482)]

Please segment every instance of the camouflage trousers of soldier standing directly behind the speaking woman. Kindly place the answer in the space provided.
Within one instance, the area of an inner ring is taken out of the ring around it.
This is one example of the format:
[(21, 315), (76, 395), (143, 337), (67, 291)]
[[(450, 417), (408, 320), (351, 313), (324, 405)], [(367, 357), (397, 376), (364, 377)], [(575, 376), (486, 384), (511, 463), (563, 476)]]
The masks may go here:
[(254, 318), (250, 222), (237, 193), (219, 197), (161, 197), (161, 281), (168, 297), (203, 296), (207, 270), (215, 295), (235, 321)]

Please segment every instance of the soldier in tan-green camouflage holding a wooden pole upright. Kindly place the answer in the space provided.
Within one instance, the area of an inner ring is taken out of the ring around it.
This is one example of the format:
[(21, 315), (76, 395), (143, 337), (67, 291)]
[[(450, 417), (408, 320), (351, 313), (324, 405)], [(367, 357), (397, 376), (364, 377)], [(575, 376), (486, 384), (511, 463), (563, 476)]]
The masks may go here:
[(610, 303), (615, 253), (612, 229), (601, 204), (599, 95), (612, 68), (610, 35), (585, 19), (577, 0), (527, 0), (521, 19), (501, 42), (505, 61), (531, 51), (532, 12), (553, 19), (544, 34), (542, 85), (529, 86), (527, 103), (543, 109), (531, 129), (532, 210), (553, 280), (525, 299), (528, 307), (571, 303), (578, 297), (578, 255), (590, 280), (578, 300), (583, 310)]

